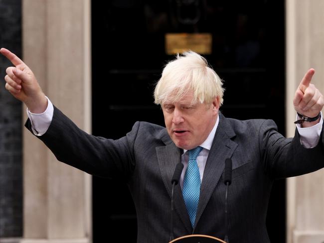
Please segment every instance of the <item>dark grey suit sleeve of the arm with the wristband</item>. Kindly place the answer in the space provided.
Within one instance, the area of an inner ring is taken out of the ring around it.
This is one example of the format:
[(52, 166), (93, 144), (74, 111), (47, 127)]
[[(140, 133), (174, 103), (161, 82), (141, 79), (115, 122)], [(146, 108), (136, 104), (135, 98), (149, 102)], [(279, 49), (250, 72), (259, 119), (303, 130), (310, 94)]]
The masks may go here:
[(270, 120), (261, 124), (258, 135), (265, 172), (273, 178), (303, 175), (324, 167), (323, 129), (313, 148), (301, 144), (297, 129), (293, 138), (285, 138)]

